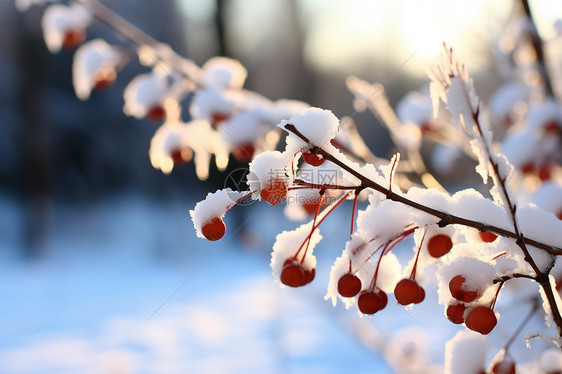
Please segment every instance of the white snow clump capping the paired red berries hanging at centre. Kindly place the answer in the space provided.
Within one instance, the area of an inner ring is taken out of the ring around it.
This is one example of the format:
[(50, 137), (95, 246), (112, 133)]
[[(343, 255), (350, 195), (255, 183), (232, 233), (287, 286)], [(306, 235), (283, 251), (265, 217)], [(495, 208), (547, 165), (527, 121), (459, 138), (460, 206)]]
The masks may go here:
[(276, 279), (281, 278), (287, 260), (296, 261), (306, 271), (316, 268), (316, 257), (312, 252), (322, 240), (322, 235), (318, 228), (312, 233), (311, 230), (312, 222), (309, 222), (295, 230), (283, 231), (277, 235), (271, 254), (271, 270)]

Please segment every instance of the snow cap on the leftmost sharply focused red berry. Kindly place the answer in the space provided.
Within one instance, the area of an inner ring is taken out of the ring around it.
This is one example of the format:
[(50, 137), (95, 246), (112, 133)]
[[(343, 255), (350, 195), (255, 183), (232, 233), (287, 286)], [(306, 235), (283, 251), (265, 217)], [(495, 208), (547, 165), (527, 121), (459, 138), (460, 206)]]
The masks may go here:
[(209, 193), (204, 200), (198, 202), (195, 207), (189, 211), (197, 237), (206, 238), (204, 227), (207, 223), (213, 224), (214, 227), (209, 227), (209, 230), (213, 229), (214, 234), (214, 230), (218, 229), (218, 224), (216, 221), (213, 222), (213, 220), (222, 220), (226, 211), (244, 195), (244, 192), (237, 192), (226, 188), (214, 193)]

